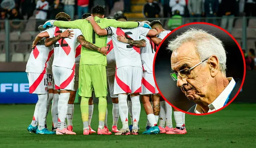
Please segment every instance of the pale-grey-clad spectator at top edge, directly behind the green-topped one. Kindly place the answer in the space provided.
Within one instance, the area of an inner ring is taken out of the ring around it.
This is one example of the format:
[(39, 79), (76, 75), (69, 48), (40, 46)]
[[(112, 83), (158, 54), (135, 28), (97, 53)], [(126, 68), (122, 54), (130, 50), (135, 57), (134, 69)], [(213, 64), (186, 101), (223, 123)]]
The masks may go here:
[(172, 14), (174, 14), (175, 10), (179, 10), (180, 15), (184, 15), (184, 7), (186, 6), (185, 0), (170, 0), (169, 6), (172, 9)]

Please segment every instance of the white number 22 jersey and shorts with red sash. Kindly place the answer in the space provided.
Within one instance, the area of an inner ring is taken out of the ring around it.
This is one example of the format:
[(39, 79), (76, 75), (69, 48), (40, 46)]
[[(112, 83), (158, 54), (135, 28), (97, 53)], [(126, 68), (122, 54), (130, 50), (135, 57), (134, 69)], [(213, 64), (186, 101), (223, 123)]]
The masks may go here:
[[(66, 28), (54, 27), (46, 30), (46, 32), (48, 32), (50, 37), (54, 37), (65, 30)], [(74, 29), (72, 33), (74, 37), (71, 39), (62, 38), (54, 45), (52, 73), (56, 89), (74, 89), (76, 47), (79, 45), (77, 37), (82, 35), (82, 32), (79, 29)]]

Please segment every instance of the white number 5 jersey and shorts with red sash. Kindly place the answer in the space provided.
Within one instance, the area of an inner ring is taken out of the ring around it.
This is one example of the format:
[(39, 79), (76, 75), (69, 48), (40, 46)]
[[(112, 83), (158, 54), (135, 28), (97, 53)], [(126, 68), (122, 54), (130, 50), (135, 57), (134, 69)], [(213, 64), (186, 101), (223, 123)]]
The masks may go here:
[(114, 94), (140, 93), (142, 85), (142, 63), (140, 58), (140, 48), (122, 43), (117, 40), (117, 36), (124, 35), (128, 39), (139, 40), (140, 36), (147, 36), (148, 28), (107, 28), (112, 32), (111, 38), (114, 45), (114, 55), (116, 58), (116, 75), (114, 80)]

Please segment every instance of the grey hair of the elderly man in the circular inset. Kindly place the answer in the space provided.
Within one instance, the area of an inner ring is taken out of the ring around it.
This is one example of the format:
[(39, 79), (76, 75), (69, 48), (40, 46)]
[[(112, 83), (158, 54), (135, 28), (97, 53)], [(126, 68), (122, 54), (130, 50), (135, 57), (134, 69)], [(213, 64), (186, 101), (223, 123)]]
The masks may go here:
[(185, 42), (194, 43), (201, 61), (212, 55), (216, 55), (219, 59), (220, 71), (223, 75), (226, 75), (226, 51), (220, 39), (205, 30), (190, 28), (186, 32), (183, 32), (182, 35), (171, 40), (167, 49), (175, 51)]

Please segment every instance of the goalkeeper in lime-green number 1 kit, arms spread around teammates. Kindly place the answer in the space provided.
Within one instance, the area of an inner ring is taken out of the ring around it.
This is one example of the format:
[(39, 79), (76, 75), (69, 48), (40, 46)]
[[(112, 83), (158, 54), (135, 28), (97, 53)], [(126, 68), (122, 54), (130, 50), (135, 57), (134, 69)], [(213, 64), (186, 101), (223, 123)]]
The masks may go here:
[[(92, 16), (95, 22), (101, 28), (116, 27), (116, 28), (135, 28), (150, 26), (144, 22), (120, 22), (113, 19), (104, 18), (105, 10), (102, 6), (94, 6), (92, 8)], [(92, 25), (87, 20), (74, 20), (70, 22), (49, 20), (44, 24), (46, 26), (58, 26), (63, 28), (77, 28), (82, 31), (86, 41), (93, 43), (98, 47), (106, 46), (107, 36), (98, 36), (92, 29)], [(99, 126), (98, 134), (111, 134), (107, 127), (104, 127), (104, 120), (107, 109), (107, 78), (106, 78), (106, 51), (94, 51), (82, 47), (81, 58), (79, 64), (79, 95), (81, 99), (81, 112), (84, 124), (84, 135), (90, 134), (88, 126), (88, 101), (92, 96), (92, 89), (94, 89), (95, 96), (99, 98)]]

